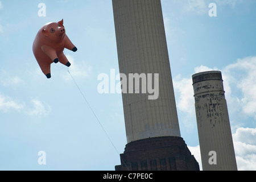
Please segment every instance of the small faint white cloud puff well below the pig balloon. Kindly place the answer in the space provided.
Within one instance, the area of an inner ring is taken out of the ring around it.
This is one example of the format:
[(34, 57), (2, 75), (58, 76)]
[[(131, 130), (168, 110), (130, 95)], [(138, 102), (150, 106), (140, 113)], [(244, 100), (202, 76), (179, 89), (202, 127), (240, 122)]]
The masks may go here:
[(43, 104), (39, 100), (32, 100), (31, 102), (34, 108), (27, 111), (31, 117), (46, 117), (51, 112), (51, 106)]

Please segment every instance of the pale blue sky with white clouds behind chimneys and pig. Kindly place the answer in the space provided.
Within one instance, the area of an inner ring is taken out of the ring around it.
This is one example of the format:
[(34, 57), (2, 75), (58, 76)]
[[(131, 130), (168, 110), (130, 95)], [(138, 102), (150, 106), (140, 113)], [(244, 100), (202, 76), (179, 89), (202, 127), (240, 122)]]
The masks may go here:
[[(38, 16), (39, 3), (46, 16)], [(209, 3), (217, 17), (210, 17)], [(200, 162), (193, 73), (222, 71), (238, 169), (256, 170), (256, 2), (162, 0), (181, 137)], [(32, 53), (39, 28), (64, 19), (78, 48), (69, 69), (119, 153), (126, 144), (121, 94), (100, 94), (118, 73), (112, 1), (0, 1), (0, 169), (114, 170), (120, 158), (60, 64), (52, 78)], [(46, 152), (46, 165), (38, 152)]]

